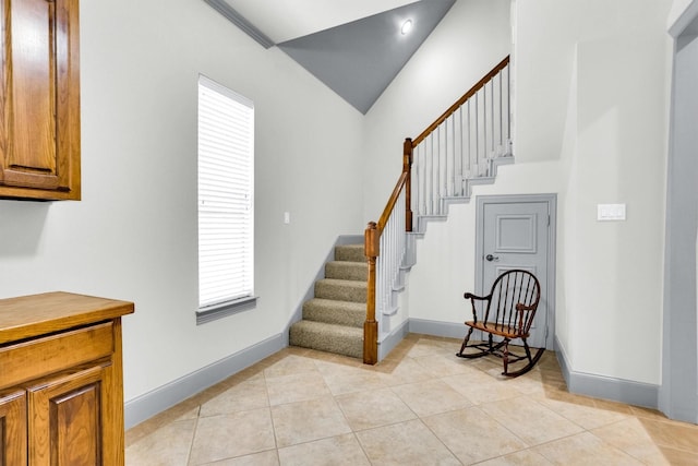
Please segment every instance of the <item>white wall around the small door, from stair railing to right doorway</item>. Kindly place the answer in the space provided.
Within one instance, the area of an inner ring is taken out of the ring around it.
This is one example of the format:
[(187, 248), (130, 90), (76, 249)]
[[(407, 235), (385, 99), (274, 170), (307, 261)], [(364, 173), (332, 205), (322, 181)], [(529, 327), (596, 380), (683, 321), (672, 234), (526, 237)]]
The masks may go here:
[[(555, 333), (570, 369), (650, 384), (661, 374), (670, 3), (517, 1), (516, 165), (476, 192), (558, 194)], [(625, 203), (627, 220), (597, 222), (599, 203)], [(462, 321), (473, 225), (462, 205), (429, 226), (410, 316)]]

